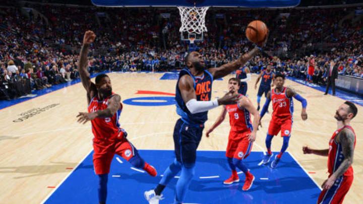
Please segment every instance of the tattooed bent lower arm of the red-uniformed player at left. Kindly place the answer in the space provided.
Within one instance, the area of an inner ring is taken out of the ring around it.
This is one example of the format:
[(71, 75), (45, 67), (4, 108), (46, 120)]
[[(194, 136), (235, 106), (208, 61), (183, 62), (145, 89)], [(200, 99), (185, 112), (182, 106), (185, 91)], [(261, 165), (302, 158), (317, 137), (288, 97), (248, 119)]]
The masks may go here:
[(108, 100), (108, 107), (103, 110), (98, 110), (96, 112), (80, 112), (77, 117), (77, 122), (85, 124), (86, 122), (95, 119), (96, 117), (112, 117), (117, 110), (119, 110), (121, 107), (121, 97), (117, 94), (113, 95)]

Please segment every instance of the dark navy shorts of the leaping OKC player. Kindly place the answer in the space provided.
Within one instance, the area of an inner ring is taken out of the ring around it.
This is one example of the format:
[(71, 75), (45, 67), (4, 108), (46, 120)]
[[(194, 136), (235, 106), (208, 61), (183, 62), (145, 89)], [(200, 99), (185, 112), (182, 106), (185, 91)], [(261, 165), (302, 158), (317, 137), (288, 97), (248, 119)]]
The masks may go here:
[(204, 125), (189, 125), (178, 119), (174, 127), (174, 152), (178, 162), (191, 165), (196, 162), (197, 148), (202, 139)]

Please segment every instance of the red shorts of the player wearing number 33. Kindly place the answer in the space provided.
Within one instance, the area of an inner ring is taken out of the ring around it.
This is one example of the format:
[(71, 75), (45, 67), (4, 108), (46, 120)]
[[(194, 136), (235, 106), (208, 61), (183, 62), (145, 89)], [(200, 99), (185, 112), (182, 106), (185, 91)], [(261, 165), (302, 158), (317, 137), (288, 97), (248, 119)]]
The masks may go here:
[(281, 130), (281, 137), (289, 137), (291, 134), (292, 120), (291, 118), (272, 117), (267, 134), (277, 135)]

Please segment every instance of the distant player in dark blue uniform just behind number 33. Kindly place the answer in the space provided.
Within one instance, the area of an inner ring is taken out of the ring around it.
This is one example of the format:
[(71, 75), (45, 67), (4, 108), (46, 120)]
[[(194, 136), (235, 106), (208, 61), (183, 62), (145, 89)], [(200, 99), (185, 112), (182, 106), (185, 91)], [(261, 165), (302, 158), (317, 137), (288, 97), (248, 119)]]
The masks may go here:
[[(267, 97), (267, 92), (271, 90), (271, 87), (274, 86), (273, 79), (275, 78), (275, 74), (271, 70), (271, 65), (267, 65), (266, 70), (263, 71), (257, 78), (255, 83), (255, 89), (257, 89), (257, 84), (261, 80), (261, 84), (259, 87), (259, 91), (257, 93), (257, 110), (260, 110), (260, 102), (262, 94), (265, 93), (265, 97)], [(271, 85), (272, 82), (272, 85)]]

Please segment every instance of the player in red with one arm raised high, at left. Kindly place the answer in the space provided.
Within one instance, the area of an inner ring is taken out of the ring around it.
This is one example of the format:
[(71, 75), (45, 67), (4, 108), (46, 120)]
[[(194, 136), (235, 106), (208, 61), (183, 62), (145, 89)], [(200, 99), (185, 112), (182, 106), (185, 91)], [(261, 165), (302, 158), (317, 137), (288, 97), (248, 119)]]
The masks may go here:
[(112, 92), (111, 81), (105, 74), (91, 82), (87, 71), (87, 54), (90, 43), (96, 35), (87, 31), (81, 48), (78, 71), (83, 87), (87, 91), (88, 113), (80, 112), (78, 122), (91, 121), (93, 138), (93, 166), (99, 178), (99, 203), (106, 203), (107, 180), (114, 154), (122, 156), (134, 167), (144, 169), (151, 176), (156, 176), (154, 167), (146, 163), (138, 154), (137, 149), (126, 139), (127, 132), (119, 127), (118, 117), (122, 111), (121, 97)]

